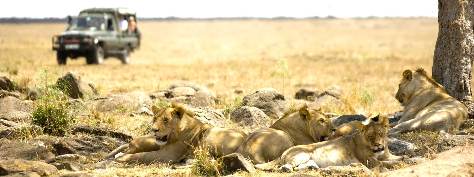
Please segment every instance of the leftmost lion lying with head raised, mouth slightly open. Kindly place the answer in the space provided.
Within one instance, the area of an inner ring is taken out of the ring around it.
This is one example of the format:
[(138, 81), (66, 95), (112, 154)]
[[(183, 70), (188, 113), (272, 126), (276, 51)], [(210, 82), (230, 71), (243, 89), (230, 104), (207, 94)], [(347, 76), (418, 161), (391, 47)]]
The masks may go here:
[[(240, 130), (203, 124), (193, 118), (192, 113), (182, 105), (173, 104), (172, 107), (163, 109), (153, 106), (152, 110), (153, 134), (130, 142), (126, 154), (118, 156), (115, 161), (145, 164), (177, 163), (185, 158), (194, 158), (192, 151), (195, 148), (208, 148), (210, 155), (217, 158), (236, 152), (248, 137)], [(150, 143), (153, 141), (155, 144)], [(145, 142), (147, 147), (137, 144), (139, 142)], [(139, 152), (150, 149), (155, 151)], [(138, 153), (131, 153), (132, 151)]]

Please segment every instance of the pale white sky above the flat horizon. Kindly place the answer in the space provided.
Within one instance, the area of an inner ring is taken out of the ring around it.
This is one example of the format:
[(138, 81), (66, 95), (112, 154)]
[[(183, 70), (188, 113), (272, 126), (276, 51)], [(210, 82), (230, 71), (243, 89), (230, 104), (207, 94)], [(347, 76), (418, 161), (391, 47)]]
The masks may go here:
[(129, 7), (138, 17), (437, 17), (438, 0), (2, 0), (0, 17), (66, 17)]

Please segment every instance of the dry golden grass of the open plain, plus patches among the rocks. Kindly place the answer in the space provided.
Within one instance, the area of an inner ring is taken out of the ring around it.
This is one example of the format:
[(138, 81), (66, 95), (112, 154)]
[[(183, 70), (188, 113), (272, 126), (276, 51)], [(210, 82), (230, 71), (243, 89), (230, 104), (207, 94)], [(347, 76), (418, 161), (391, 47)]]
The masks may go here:
[[(226, 113), (235, 109), (244, 95), (262, 87), (273, 87), (293, 98), (300, 88), (324, 91), (332, 84), (343, 86), (348, 93), (343, 101), (350, 109), (340, 114), (399, 111), (394, 95), (401, 72), (424, 67), (430, 75), (438, 34), (436, 18), (139, 22), (142, 47), (131, 55), (131, 64), (122, 65), (111, 58), (103, 65), (89, 66), (80, 58), (58, 66), (51, 38), (64, 26), (0, 24), (0, 76), (32, 87), (42, 67), (51, 66), (54, 78), (72, 70), (94, 83), (103, 96), (152, 92), (177, 80), (188, 80), (215, 91), (221, 100), (218, 107)], [(281, 70), (285, 68), (282, 59), (287, 72)], [(234, 93), (237, 88), (243, 88), (244, 94)], [(93, 111), (79, 121), (143, 134), (137, 125), (150, 118), (129, 117), (132, 111)], [(190, 171), (171, 170), (163, 164), (122, 165), (92, 172), (104, 176), (193, 176)]]

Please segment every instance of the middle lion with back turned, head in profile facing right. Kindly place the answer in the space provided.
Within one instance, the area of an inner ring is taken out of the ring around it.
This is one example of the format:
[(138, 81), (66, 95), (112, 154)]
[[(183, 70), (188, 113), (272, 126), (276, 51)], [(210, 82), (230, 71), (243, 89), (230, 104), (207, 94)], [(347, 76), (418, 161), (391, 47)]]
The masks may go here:
[(237, 152), (255, 164), (278, 158), (290, 147), (327, 140), (334, 134), (334, 124), (322, 110), (289, 110), (269, 128), (255, 130)]

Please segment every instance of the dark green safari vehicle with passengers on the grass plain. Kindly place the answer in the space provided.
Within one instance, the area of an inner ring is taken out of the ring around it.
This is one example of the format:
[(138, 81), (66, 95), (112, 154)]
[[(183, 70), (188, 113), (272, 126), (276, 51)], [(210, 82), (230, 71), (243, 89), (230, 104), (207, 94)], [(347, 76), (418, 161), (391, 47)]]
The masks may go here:
[[(66, 31), (53, 36), (58, 64), (65, 65), (68, 57), (85, 57), (87, 64), (101, 64), (108, 57), (116, 57), (128, 64), (130, 52), (140, 47), (136, 15), (128, 8), (89, 8), (68, 17)], [(128, 25), (121, 28), (121, 20)]]

